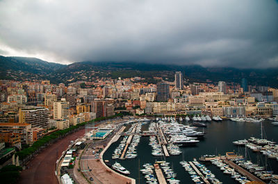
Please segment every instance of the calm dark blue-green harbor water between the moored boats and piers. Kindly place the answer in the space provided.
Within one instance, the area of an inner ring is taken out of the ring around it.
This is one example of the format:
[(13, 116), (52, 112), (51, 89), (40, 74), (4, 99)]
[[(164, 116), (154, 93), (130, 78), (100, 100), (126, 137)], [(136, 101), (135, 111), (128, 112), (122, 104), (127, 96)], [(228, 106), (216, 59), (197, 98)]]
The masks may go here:
[[(183, 124), (188, 124), (182, 122)], [(191, 123), (191, 122), (189, 122)], [(204, 128), (206, 135), (197, 143), (195, 147), (181, 147), (183, 154), (179, 156), (170, 156), (165, 158), (167, 162), (171, 163), (174, 168), (174, 172), (177, 173), (177, 179), (181, 183), (193, 183), (190, 179), (190, 175), (179, 164), (181, 160), (191, 161), (193, 158), (199, 158), (206, 154), (221, 154), (224, 155), (228, 151), (234, 151), (245, 155), (244, 147), (237, 147), (232, 142), (235, 140), (248, 139), (250, 137), (261, 137), (261, 124), (260, 123), (245, 123), (245, 122), (232, 122), (230, 120), (223, 120), (222, 122), (209, 122), (207, 128)], [(149, 124), (142, 126), (142, 129), (147, 128)], [(199, 128), (202, 131), (203, 128)], [(263, 134), (267, 136), (268, 140), (278, 142), (278, 126), (272, 126), (270, 121), (263, 122)], [(145, 178), (139, 172), (145, 163), (152, 163), (156, 160), (163, 160), (164, 158), (152, 156), (152, 147), (149, 146), (149, 137), (141, 137), (140, 143), (137, 147), (138, 156), (136, 159), (131, 160), (113, 160), (111, 158), (113, 151), (120, 143), (122, 138), (113, 143), (111, 147), (104, 154), (104, 160), (110, 160), (113, 164), (115, 161), (120, 162), (122, 166), (128, 169), (131, 174), (131, 178), (136, 178), (136, 183), (145, 183)], [(276, 159), (265, 159), (262, 154), (254, 153), (252, 150), (247, 149), (247, 156), (252, 162), (260, 162), (261, 165), (265, 165), (265, 160), (268, 162), (268, 170), (272, 170), (275, 174), (278, 174), (278, 161)], [(229, 175), (223, 174), (218, 167), (212, 165), (210, 162), (206, 163), (206, 167), (215, 174), (216, 178), (220, 179), (222, 183), (237, 183)]]

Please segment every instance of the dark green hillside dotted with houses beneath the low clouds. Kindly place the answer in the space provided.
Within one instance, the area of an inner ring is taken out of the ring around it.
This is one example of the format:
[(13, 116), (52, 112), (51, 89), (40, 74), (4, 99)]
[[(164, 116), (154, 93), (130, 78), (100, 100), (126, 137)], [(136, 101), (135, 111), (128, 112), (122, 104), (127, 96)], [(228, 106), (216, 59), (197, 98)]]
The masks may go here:
[(48, 79), (51, 83), (94, 81), (95, 78), (127, 78), (141, 76), (156, 83), (154, 76), (174, 81), (174, 72), (181, 71), (189, 82), (226, 81), (249, 85), (278, 87), (278, 69), (236, 69), (231, 67), (201, 67), (199, 65), (160, 65), (142, 62), (74, 62), (60, 65), (37, 58), (0, 56), (0, 79)]

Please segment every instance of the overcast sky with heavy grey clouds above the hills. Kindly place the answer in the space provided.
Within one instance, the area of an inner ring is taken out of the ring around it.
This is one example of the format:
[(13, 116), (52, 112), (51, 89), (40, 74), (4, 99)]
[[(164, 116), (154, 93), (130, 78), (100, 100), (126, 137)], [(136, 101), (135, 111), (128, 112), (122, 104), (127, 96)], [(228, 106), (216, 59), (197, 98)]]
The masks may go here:
[(278, 1), (0, 0), (0, 55), (278, 67)]

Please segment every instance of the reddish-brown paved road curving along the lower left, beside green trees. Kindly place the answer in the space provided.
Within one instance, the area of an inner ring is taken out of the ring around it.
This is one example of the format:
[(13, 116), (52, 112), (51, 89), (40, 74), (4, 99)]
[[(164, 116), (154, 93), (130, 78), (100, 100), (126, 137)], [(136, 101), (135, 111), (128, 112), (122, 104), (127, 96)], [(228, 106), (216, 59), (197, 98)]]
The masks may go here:
[(56, 167), (56, 160), (60, 158), (62, 152), (67, 149), (71, 140), (76, 140), (83, 136), (84, 129), (77, 131), (71, 135), (67, 135), (62, 140), (58, 140), (55, 144), (47, 147), (42, 153), (35, 156), (31, 162), (28, 163), (29, 169), (25, 169), (20, 174), (20, 184), (58, 184), (57, 178), (54, 174)]

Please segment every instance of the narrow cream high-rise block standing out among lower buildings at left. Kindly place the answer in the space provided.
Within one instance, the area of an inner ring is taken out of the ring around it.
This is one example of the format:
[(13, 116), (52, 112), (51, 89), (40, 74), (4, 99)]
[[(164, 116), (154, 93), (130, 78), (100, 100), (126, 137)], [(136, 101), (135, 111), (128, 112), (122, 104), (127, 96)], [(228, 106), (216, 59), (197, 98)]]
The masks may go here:
[(61, 99), (54, 102), (54, 119), (69, 119), (70, 118), (70, 102)]

